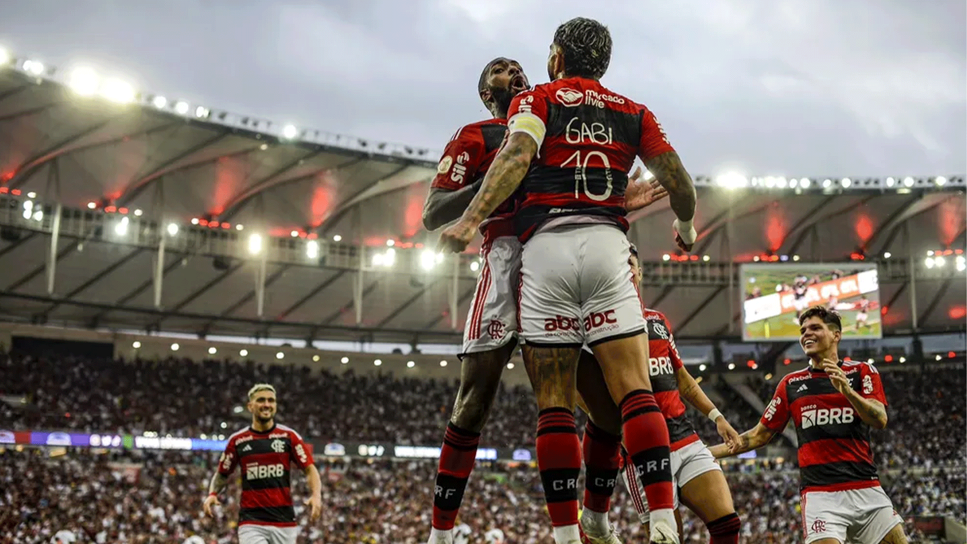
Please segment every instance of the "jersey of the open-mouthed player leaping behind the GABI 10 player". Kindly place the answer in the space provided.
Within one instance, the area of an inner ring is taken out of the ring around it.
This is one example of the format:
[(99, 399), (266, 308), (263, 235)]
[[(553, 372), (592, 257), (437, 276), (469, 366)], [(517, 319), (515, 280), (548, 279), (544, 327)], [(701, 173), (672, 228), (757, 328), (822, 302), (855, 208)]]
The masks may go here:
[[(443, 150), (430, 187), (456, 191), (483, 179), (507, 135), (507, 119), (487, 119), (471, 123), (456, 131)], [(481, 225), (481, 233), (490, 237), (513, 235), (511, 214), (515, 196), (502, 202)]]

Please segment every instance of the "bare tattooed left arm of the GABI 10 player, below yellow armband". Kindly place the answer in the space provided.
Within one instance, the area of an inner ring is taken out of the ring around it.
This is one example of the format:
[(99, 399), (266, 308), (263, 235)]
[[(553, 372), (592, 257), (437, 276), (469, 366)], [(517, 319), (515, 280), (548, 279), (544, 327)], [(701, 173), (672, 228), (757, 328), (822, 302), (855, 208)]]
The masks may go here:
[(501, 202), (513, 195), (537, 152), (538, 144), (533, 137), (524, 133), (511, 134), (487, 169), (484, 184), (463, 212), (462, 221), (476, 228)]

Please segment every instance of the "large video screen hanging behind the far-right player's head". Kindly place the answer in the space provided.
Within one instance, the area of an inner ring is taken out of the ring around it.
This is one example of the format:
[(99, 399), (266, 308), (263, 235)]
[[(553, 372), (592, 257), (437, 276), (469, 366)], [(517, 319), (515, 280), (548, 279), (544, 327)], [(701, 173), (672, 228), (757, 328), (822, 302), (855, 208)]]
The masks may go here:
[(799, 315), (823, 305), (839, 313), (843, 338), (881, 338), (880, 284), (870, 263), (742, 265), (742, 338), (799, 340)]

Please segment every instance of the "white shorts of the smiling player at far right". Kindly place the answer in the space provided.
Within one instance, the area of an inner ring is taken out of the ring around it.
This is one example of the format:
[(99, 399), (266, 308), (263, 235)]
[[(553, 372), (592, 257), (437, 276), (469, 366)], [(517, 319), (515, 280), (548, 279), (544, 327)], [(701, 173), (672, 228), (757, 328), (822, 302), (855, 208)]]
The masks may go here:
[(803, 494), (803, 532), (806, 544), (835, 538), (851, 544), (880, 544), (903, 519), (880, 486)]

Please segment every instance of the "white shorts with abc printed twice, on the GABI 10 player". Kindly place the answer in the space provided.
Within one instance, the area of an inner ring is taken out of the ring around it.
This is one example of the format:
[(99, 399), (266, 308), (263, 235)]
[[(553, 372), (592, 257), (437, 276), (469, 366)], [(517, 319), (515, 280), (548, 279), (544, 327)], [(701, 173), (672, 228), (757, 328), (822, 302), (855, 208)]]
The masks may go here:
[(645, 332), (625, 233), (610, 225), (548, 228), (524, 244), (520, 329), (532, 346), (572, 346)]

